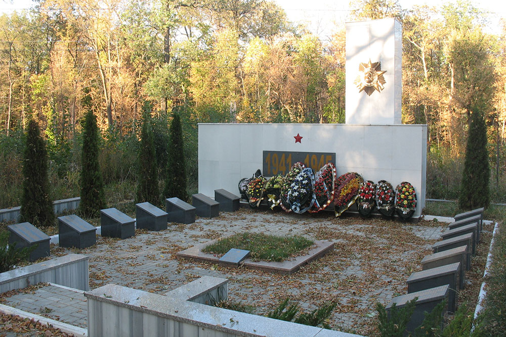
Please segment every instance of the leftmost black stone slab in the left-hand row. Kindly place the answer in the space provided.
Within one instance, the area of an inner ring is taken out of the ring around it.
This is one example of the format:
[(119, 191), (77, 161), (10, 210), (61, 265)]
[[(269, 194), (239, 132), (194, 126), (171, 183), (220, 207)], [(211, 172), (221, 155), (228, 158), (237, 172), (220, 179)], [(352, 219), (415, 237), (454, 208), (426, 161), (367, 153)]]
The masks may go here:
[(14, 243), (16, 243), (16, 248), (36, 246), (30, 253), (30, 261), (51, 255), (49, 248), (51, 237), (31, 223), (23, 222), (9, 225), (7, 229), (10, 231), (9, 246), (14, 245)]

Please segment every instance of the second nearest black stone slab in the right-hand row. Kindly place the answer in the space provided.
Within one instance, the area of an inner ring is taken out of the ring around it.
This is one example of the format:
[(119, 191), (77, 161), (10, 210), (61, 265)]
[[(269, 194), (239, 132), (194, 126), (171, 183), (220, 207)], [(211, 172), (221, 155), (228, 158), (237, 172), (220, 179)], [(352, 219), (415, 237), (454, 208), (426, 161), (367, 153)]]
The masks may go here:
[(412, 273), (406, 283), (408, 294), (430, 289), (435, 286), (449, 284), (448, 311), (455, 312), (457, 302), (457, 290), (459, 289), (459, 275), (462, 266), (460, 262), (445, 266), (427, 269)]

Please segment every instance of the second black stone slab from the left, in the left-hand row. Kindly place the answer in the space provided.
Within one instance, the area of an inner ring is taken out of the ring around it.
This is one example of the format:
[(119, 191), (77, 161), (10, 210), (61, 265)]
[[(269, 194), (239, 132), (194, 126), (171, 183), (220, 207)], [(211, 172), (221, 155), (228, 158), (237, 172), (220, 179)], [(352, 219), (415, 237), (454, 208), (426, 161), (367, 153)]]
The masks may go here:
[(97, 243), (97, 228), (75, 214), (58, 217), (61, 247), (86, 248)]

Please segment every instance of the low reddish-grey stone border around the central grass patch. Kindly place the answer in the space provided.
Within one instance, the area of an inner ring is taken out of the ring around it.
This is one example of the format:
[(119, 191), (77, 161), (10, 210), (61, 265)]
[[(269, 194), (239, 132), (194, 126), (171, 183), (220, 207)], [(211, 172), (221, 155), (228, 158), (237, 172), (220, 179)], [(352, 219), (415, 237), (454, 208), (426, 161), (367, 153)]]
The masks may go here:
[[(197, 262), (209, 262), (213, 264), (222, 265), (225, 267), (235, 267), (235, 265), (233, 264), (223, 263), (219, 261), (220, 258), (215, 254), (207, 254), (202, 252), (202, 249), (204, 249), (204, 247), (212, 245), (222, 238), (223, 237), (210, 240), (203, 244), (195, 245), (184, 251), (176, 253), (176, 257), (178, 259), (194, 260)], [(269, 261), (253, 262), (251, 261), (251, 259), (248, 258), (244, 260), (243, 263), (239, 264), (239, 267), (247, 269), (263, 270), (277, 274), (290, 275), (298, 271), (301, 268), (301, 266), (309, 262), (312, 262), (316, 259), (319, 259), (320, 257), (324, 256), (325, 254), (329, 253), (334, 249), (334, 243), (329, 241), (324, 240), (315, 241), (315, 245), (316, 247), (311, 249), (308, 252), (308, 254), (298, 256), (291, 260), (286, 260), (282, 262), (269, 262)]]

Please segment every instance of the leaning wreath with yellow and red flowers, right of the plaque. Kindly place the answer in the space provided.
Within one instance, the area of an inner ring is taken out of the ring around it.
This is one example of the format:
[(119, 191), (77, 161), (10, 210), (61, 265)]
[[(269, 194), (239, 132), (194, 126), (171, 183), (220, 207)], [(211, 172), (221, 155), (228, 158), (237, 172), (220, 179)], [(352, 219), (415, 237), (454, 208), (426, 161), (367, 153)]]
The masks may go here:
[(334, 194), (335, 216), (340, 216), (355, 203), (363, 182), (362, 176), (356, 172), (348, 172), (338, 178)]

